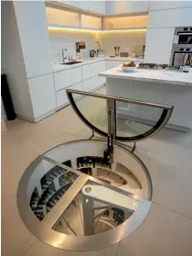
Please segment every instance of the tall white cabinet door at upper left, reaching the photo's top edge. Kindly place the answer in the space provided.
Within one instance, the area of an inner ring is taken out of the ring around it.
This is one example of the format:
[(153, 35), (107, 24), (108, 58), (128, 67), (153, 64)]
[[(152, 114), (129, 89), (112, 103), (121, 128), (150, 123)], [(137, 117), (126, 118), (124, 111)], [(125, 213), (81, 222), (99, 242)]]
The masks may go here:
[(52, 72), (45, 3), (43, 1), (13, 3), (27, 78)]

